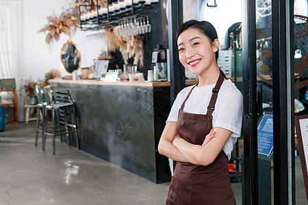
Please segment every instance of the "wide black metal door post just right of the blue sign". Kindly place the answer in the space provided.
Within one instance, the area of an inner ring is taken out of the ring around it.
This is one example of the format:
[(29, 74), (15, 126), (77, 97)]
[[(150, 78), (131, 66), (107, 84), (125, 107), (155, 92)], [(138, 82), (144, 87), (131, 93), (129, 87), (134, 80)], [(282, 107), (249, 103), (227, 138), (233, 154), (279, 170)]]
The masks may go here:
[[(290, 9), (291, 8), (291, 9)], [(272, 1), (272, 96), (274, 128), (274, 204), (295, 203), (293, 1)], [(292, 16), (292, 17), (291, 17)], [(292, 19), (291, 19), (292, 18)], [(287, 24), (288, 23), (288, 24)], [(287, 27), (289, 25), (289, 27)], [(290, 35), (287, 36), (287, 30)], [(288, 39), (289, 38), (289, 39)], [(288, 45), (287, 42), (290, 44)], [(290, 59), (288, 58), (290, 57)], [(288, 70), (290, 68), (290, 70)], [(288, 72), (289, 71), (289, 72)], [(290, 81), (288, 81), (290, 77)], [(290, 83), (290, 84), (288, 84)], [(288, 86), (289, 85), (289, 86)], [(288, 91), (290, 93), (288, 93)], [(290, 100), (291, 102), (288, 102)], [(288, 110), (291, 109), (291, 115)], [(288, 116), (289, 115), (289, 116)], [(286, 118), (287, 116), (287, 118)], [(291, 119), (291, 121), (288, 121)], [(290, 124), (291, 126), (288, 126)], [(291, 137), (291, 148), (288, 137)], [(289, 157), (291, 155), (291, 157)], [(291, 159), (291, 161), (290, 161)], [(290, 184), (291, 183), (291, 184)], [(290, 185), (291, 193), (289, 190)]]

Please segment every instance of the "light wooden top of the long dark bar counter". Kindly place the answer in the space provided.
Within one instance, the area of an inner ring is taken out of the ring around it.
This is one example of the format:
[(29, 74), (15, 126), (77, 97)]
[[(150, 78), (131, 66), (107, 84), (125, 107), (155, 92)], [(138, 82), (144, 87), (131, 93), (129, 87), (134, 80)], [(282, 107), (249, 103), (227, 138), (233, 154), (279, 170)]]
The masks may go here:
[[(95, 81), (95, 80), (66, 80), (66, 79), (50, 79), (50, 83), (71, 83), (71, 84), (84, 84), (84, 85), (125, 85), (125, 86), (138, 86), (138, 87), (164, 87), (170, 86), (170, 82), (129, 82), (129, 81), (118, 81), (118, 82), (105, 82), (105, 81)], [(186, 85), (196, 84), (198, 81), (189, 80), (186, 81)]]

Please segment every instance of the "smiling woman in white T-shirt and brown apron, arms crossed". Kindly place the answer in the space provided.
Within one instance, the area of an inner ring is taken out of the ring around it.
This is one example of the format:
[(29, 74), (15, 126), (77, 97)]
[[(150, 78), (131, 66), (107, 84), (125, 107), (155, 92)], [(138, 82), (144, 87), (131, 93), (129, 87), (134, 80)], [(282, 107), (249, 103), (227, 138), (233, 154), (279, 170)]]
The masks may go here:
[(178, 162), (166, 204), (235, 204), (227, 161), (241, 134), (242, 94), (218, 68), (213, 25), (190, 20), (176, 43), (199, 82), (179, 92), (159, 141), (159, 153)]

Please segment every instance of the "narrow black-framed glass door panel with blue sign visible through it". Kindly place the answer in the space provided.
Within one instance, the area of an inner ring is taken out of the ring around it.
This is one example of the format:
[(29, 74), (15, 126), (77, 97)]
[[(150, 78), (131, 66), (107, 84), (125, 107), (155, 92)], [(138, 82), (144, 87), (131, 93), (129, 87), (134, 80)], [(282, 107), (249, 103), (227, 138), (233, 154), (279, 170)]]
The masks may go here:
[(243, 3), (243, 204), (294, 204), (293, 2)]

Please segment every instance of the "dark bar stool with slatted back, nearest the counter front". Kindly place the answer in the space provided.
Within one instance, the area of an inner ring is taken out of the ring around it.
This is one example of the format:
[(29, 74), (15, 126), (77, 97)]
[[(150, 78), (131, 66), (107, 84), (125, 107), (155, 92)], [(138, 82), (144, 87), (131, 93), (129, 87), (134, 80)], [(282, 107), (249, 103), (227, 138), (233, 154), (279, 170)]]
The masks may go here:
[[(44, 97), (47, 102), (45, 108), (51, 110), (52, 128), (47, 128), (49, 114), (45, 115), (44, 131), (43, 131), (43, 147), (46, 141), (46, 135), (53, 136), (53, 154), (55, 154), (55, 136), (66, 136), (66, 143), (70, 146), (70, 133), (75, 133), (76, 147), (79, 149), (78, 128), (75, 112), (75, 103), (68, 90), (52, 92), (49, 87), (44, 87)], [(44, 150), (44, 149), (43, 149)]]

